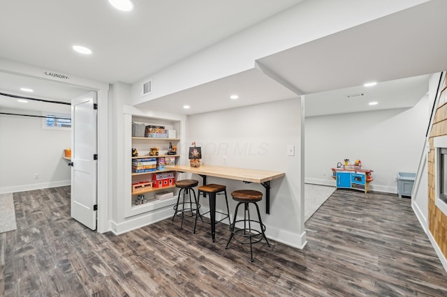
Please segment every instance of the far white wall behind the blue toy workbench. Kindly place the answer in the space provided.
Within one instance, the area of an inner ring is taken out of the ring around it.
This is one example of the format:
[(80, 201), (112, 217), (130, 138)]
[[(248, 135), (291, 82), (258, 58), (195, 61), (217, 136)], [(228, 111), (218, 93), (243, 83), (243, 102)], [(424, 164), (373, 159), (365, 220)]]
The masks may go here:
[[(305, 119), (305, 181), (335, 185), (331, 167), (360, 159), (374, 170), (370, 190), (397, 193), (397, 172), (418, 170), (428, 127), (427, 96), (410, 109)], [(325, 174), (325, 175), (324, 175)]]

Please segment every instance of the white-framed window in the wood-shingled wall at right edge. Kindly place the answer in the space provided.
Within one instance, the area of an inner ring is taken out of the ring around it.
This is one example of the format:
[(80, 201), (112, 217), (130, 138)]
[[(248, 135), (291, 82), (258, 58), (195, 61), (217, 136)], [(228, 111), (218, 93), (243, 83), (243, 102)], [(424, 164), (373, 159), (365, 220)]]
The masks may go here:
[(434, 202), (447, 215), (447, 136), (434, 137)]

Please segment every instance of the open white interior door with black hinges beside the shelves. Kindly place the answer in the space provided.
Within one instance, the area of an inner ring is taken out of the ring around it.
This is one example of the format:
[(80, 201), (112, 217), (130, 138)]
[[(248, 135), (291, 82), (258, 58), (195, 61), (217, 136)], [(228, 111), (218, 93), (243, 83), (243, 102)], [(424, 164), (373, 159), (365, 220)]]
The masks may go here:
[(96, 92), (71, 100), (71, 217), (96, 229)]

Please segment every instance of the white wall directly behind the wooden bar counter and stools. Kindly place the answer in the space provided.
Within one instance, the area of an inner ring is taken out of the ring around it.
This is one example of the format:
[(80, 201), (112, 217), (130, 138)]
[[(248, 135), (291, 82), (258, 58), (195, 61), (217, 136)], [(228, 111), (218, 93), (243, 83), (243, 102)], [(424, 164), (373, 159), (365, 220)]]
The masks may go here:
[[(281, 100), (219, 112), (189, 116), (186, 141), (201, 146), (205, 165), (265, 169), (285, 172), (271, 182), (270, 215), (265, 213), (265, 199), (259, 203), (266, 234), (270, 238), (301, 248), (305, 244), (304, 203), (300, 195), (301, 116), (300, 100)], [(295, 145), (295, 156), (287, 156), (287, 145)], [(201, 181), (200, 176), (196, 179)], [(243, 188), (265, 192), (262, 185), (225, 178), (207, 178), (207, 183), (227, 185), (228, 193)], [(230, 199), (230, 212), (235, 203)], [(220, 203), (219, 203), (220, 202)], [(223, 209), (223, 201), (217, 208)], [(206, 201), (203, 201), (206, 207)]]

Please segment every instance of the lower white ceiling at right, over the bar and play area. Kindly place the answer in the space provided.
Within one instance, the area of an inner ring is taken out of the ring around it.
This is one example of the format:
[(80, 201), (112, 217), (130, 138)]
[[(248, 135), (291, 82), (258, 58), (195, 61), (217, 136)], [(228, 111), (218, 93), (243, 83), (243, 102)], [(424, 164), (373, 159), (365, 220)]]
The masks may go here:
[[(296, 93), (306, 94), (306, 116), (413, 107), (427, 93), (430, 74), (447, 68), (447, 38), (439, 37), (447, 27), (446, 11), (447, 1), (430, 1), (259, 59), (270, 83), (253, 69), (138, 107), (166, 110), (168, 105), (173, 112), (196, 114)], [(379, 83), (363, 86), (372, 81)], [(237, 90), (243, 90), (239, 101), (230, 100)], [(358, 93), (365, 95), (346, 97)], [(370, 106), (371, 101), (379, 104)], [(191, 109), (182, 111), (184, 104)]]

